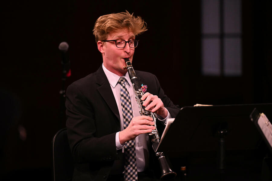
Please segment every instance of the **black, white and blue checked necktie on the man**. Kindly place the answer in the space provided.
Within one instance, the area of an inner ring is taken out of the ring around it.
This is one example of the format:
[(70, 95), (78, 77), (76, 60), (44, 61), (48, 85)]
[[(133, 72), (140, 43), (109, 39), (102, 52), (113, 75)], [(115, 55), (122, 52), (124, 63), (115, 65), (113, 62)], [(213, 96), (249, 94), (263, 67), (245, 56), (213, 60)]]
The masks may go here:
[[(124, 119), (124, 129), (126, 129), (133, 118), (132, 106), (128, 90), (125, 86), (126, 79), (120, 77), (118, 83), (121, 84), (120, 97)], [(137, 181), (137, 165), (136, 165), (136, 151), (135, 141), (130, 140), (125, 143), (125, 170), (124, 180), (125, 181)]]

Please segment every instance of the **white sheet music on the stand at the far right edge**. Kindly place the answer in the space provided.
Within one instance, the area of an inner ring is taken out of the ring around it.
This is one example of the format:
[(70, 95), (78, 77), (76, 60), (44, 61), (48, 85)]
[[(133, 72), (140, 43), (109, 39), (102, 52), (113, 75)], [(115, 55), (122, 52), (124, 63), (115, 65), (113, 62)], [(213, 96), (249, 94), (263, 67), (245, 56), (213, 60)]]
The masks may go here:
[(258, 119), (258, 125), (264, 133), (264, 136), (267, 139), (268, 143), (272, 147), (272, 125), (264, 113), (261, 113), (261, 116)]

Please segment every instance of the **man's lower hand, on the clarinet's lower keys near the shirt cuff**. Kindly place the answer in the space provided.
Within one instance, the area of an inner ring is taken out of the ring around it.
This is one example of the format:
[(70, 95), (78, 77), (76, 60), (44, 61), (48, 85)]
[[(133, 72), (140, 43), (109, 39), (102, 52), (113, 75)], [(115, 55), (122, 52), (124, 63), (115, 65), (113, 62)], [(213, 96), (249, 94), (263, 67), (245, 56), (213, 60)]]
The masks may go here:
[(136, 116), (131, 119), (128, 127), (119, 132), (120, 144), (134, 140), (138, 135), (150, 133), (155, 129), (153, 118), (149, 116)]

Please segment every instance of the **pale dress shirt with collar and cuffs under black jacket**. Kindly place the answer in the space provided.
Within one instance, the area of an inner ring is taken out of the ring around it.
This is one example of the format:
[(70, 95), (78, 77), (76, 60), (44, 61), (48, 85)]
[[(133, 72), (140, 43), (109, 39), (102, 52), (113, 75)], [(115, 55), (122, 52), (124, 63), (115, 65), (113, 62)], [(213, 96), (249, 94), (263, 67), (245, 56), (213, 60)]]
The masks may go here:
[[(124, 130), (124, 123), (123, 123), (123, 113), (122, 113), (122, 106), (121, 106), (121, 99), (120, 99), (120, 90), (121, 90), (121, 84), (118, 84), (118, 80), (120, 76), (112, 73), (107, 68), (105, 68), (104, 64), (102, 64), (103, 71), (105, 72), (109, 84), (112, 88), (112, 93), (115, 97), (115, 101), (117, 103), (119, 115), (120, 115), (120, 122), (121, 122), (121, 131)], [(130, 95), (131, 105), (132, 105), (132, 111), (133, 111), (133, 117), (140, 116), (139, 113), (139, 106), (135, 99), (135, 94), (133, 91), (133, 87), (131, 84), (131, 81), (128, 76), (128, 72), (125, 74), (126, 81), (125, 86), (128, 90), (128, 93)], [(148, 91), (148, 90), (147, 90)], [(168, 110), (167, 110), (168, 112)], [(165, 119), (160, 119), (160, 116), (157, 116), (160, 121), (163, 123), (166, 123), (166, 120), (168, 118), (171, 118), (170, 113), (168, 112), (167, 117)], [(135, 147), (136, 147), (136, 162), (137, 162), (137, 171), (142, 172), (148, 167), (148, 161), (149, 161), (149, 151), (148, 151), (148, 142), (150, 140), (150, 136), (148, 134), (141, 134), (138, 135), (135, 138)], [(120, 144), (119, 141), (119, 132), (115, 135), (115, 143), (116, 143), (116, 150), (122, 149), (124, 152), (124, 145)], [(155, 153), (154, 153), (155, 154)]]

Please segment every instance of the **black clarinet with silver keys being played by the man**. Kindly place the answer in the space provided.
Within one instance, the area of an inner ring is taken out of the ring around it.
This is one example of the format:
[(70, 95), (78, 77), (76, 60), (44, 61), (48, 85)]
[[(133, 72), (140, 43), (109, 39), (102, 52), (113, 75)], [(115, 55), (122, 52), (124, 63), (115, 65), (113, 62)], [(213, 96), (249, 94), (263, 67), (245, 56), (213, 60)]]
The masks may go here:
[(151, 131), (151, 133), (149, 133), (148, 135), (151, 137), (151, 142), (152, 142), (152, 148), (156, 153), (156, 156), (158, 157), (159, 163), (160, 163), (160, 169), (161, 169), (161, 180), (170, 180), (176, 177), (176, 173), (173, 172), (170, 167), (169, 164), (167, 163), (167, 160), (164, 156), (163, 152), (156, 152), (157, 147), (159, 145), (160, 142), (160, 137), (159, 137), (159, 133), (157, 131), (157, 126), (156, 126), (156, 118), (157, 115), (155, 113), (152, 113), (150, 110), (145, 110), (145, 106), (143, 106), (143, 100), (141, 100), (141, 97), (144, 95), (143, 90), (141, 89), (141, 86), (138, 82), (138, 78), (135, 74), (135, 71), (131, 65), (131, 62), (129, 59), (125, 59), (125, 63), (126, 63), (126, 67), (124, 67), (124, 69), (128, 70), (128, 75), (130, 78), (130, 81), (132, 83), (133, 86), (133, 90), (135, 93), (135, 98), (136, 101), (139, 105), (139, 109), (140, 109), (140, 115), (144, 115), (144, 116), (150, 116), (153, 119), (154, 122), (154, 126), (155, 129)]

